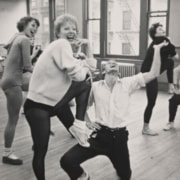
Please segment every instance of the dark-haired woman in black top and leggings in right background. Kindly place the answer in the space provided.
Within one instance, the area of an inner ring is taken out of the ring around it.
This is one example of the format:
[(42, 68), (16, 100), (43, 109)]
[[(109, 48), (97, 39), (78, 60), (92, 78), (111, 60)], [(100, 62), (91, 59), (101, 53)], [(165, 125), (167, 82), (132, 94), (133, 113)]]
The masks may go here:
[[(173, 68), (174, 68), (174, 60), (179, 58), (176, 53), (175, 46), (171, 43), (168, 37), (165, 35), (164, 28), (160, 23), (154, 23), (151, 25), (149, 29), (149, 35), (152, 38), (152, 42), (148, 47), (146, 52), (145, 59), (141, 66), (141, 72), (148, 72), (152, 66), (154, 49), (153, 46), (162, 43), (163, 41), (167, 41), (169, 44), (166, 47), (163, 47), (161, 50), (161, 73), (165, 70), (168, 71), (168, 81), (170, 87), (173, 87)], [(158, 133), (152, 130), (149, 127), (151, 116), (153, 113), (153, 109), (156, 104), (156, 99), (158, 95), (158, 80), (157, 78), (152, 80), (146, 85), (146, 95), (147, 95), (147, 106), (144, 111), (144, 125), (142, 129), (142, 134), (156, 136)]]

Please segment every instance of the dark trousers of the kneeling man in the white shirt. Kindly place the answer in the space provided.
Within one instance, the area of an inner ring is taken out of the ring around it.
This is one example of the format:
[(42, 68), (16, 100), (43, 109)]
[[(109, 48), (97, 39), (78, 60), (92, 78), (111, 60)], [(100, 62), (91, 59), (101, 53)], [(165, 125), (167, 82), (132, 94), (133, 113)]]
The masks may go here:
[(97, 155), (105, 155), (112, 162), (121, 180), (129, 180), (131, 168), (128, 150), (128, 131), (125, 128), (112, 130), (102, 127), (91, 134), (90, 147), (75, 145), (61, 158), (60, 164), (71, 180), (76, 180), (83, 173), (80, 164)]

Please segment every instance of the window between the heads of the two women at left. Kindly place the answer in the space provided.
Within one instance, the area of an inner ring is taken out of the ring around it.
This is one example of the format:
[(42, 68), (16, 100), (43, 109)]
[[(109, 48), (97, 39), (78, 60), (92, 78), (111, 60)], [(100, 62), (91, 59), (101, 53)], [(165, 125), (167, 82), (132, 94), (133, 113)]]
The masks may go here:
[(54, 20), (65, 12), (65, 0), (29, 0), (29, 12), (40, 21), (35, 41), (44, 48), (54, 39)]

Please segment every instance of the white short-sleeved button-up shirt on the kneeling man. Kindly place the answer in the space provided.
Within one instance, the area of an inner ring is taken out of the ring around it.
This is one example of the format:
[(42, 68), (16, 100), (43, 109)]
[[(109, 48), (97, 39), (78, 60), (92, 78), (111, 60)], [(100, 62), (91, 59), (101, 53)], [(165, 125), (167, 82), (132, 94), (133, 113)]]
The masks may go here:
[(131, 94), (142, 86), (145, 86), (142, 73), (118, 79), (112, 91), (105, 80), (94, 82), (89, 106), (94, 103), (95, 122), (110, 128), (125, 127)]

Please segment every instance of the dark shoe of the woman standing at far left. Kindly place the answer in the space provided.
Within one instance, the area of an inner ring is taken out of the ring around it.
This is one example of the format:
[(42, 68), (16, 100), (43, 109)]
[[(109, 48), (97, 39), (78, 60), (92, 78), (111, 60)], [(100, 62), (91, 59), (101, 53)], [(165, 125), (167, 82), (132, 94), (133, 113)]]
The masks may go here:
[(23, 164), (23, 161), (19, 159), (17, 156), (15, 156), (14, 154), (3, 156), (2, 162), (4, 164), (9, 164), (9, 165), (22, 165)]

